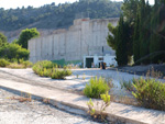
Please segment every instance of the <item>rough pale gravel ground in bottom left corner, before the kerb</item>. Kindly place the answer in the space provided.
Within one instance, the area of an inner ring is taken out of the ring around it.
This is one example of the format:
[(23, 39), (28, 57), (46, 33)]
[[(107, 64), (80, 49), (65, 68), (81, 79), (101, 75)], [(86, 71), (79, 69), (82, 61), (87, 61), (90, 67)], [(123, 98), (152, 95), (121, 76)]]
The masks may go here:
[(19, 98), (0, 88), (0, 124), (98, 124), (89, 117), (63, 112), (41, 101), (19, 102), (13, 97)]

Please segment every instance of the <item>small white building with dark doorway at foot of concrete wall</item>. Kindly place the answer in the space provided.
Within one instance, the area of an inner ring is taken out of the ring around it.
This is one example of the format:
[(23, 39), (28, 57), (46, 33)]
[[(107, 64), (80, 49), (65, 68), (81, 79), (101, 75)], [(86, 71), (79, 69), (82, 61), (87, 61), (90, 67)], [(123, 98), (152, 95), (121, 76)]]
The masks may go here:
[(84, 56), (84, 68), (98, 68), (100, 63), (106, 63), (107, 67), (117, 66), (116, 56), (109, 54), (106, 54), (106, 56)]

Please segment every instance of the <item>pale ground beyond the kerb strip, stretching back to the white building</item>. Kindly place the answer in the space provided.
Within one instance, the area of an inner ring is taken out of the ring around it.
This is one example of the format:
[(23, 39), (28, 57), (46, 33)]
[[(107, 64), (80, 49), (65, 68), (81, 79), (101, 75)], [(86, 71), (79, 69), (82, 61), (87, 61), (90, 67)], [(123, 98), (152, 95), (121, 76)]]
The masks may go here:
[[(4, 72), (8, 72), (8, 75)], [(22, 77), (26, 80), (16, 79), (15, 77), (10, 76), (14, 75)], [(3, 76), (2, 76), (3, 75)], [(41, 78), (33, 72), (31, 68), (29, 69), (8, 69), (0, 68), (0, 76), (6, 77), (6, 79), (16, 80), (20, 82), (37, 84), (44, 88), (58, 88), (65, 89), (66, 91), (82, 91), (86, 83), (89, 82), (91, 77), (106, 77), (107, 79), (112, 79), (114, 88), (111, 90), (114, 95), (130, 95), (125, 92), (124, 89), (121, 89), (120, 82), (125, 80), (132, 80), (134, 77), (139, 78), (140, 76), (130, 75), (127, 72), (120, 72), (114, 70), (100, 70), (100, 69), (73, 69), (73, 75), (66, 77), (67, 80), (54, 80), (51, 78)]]

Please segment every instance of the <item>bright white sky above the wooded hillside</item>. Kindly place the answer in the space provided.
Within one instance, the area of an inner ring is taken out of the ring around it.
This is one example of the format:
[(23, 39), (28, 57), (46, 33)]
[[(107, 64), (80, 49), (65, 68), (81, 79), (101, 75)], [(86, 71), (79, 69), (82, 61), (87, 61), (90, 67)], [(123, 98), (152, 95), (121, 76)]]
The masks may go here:
[[(4, 9), (16, 9), (22, 8), (23, 5), (26, 8), (29, 5), (32, 5), (34, 8), (44, 5), (44, 4), (50, 4), (52, 2), (55, 2), (56, 4), (58, 3), (65, 3), (65, 2), (75, 2), (79, 0), (0, 0), (0, 8)], [(112, 1), (122, 1), (122, 0), (112, 0)], [(151, 4), (154, 3), (154, 0), (148, 0)]]

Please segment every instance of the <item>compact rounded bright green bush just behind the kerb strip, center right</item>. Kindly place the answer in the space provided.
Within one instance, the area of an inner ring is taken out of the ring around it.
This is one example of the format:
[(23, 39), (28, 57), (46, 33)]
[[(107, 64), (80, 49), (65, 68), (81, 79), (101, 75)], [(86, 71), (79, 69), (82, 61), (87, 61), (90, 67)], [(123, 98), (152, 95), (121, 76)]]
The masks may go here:
[(89, 84), (86, 84), (84, 93), (88, 98), (100, 98), (100, 94), (103, 94), (109, 90), (108, 82), (101, 77), (99, 79), (96, 77), (89, 80)]

